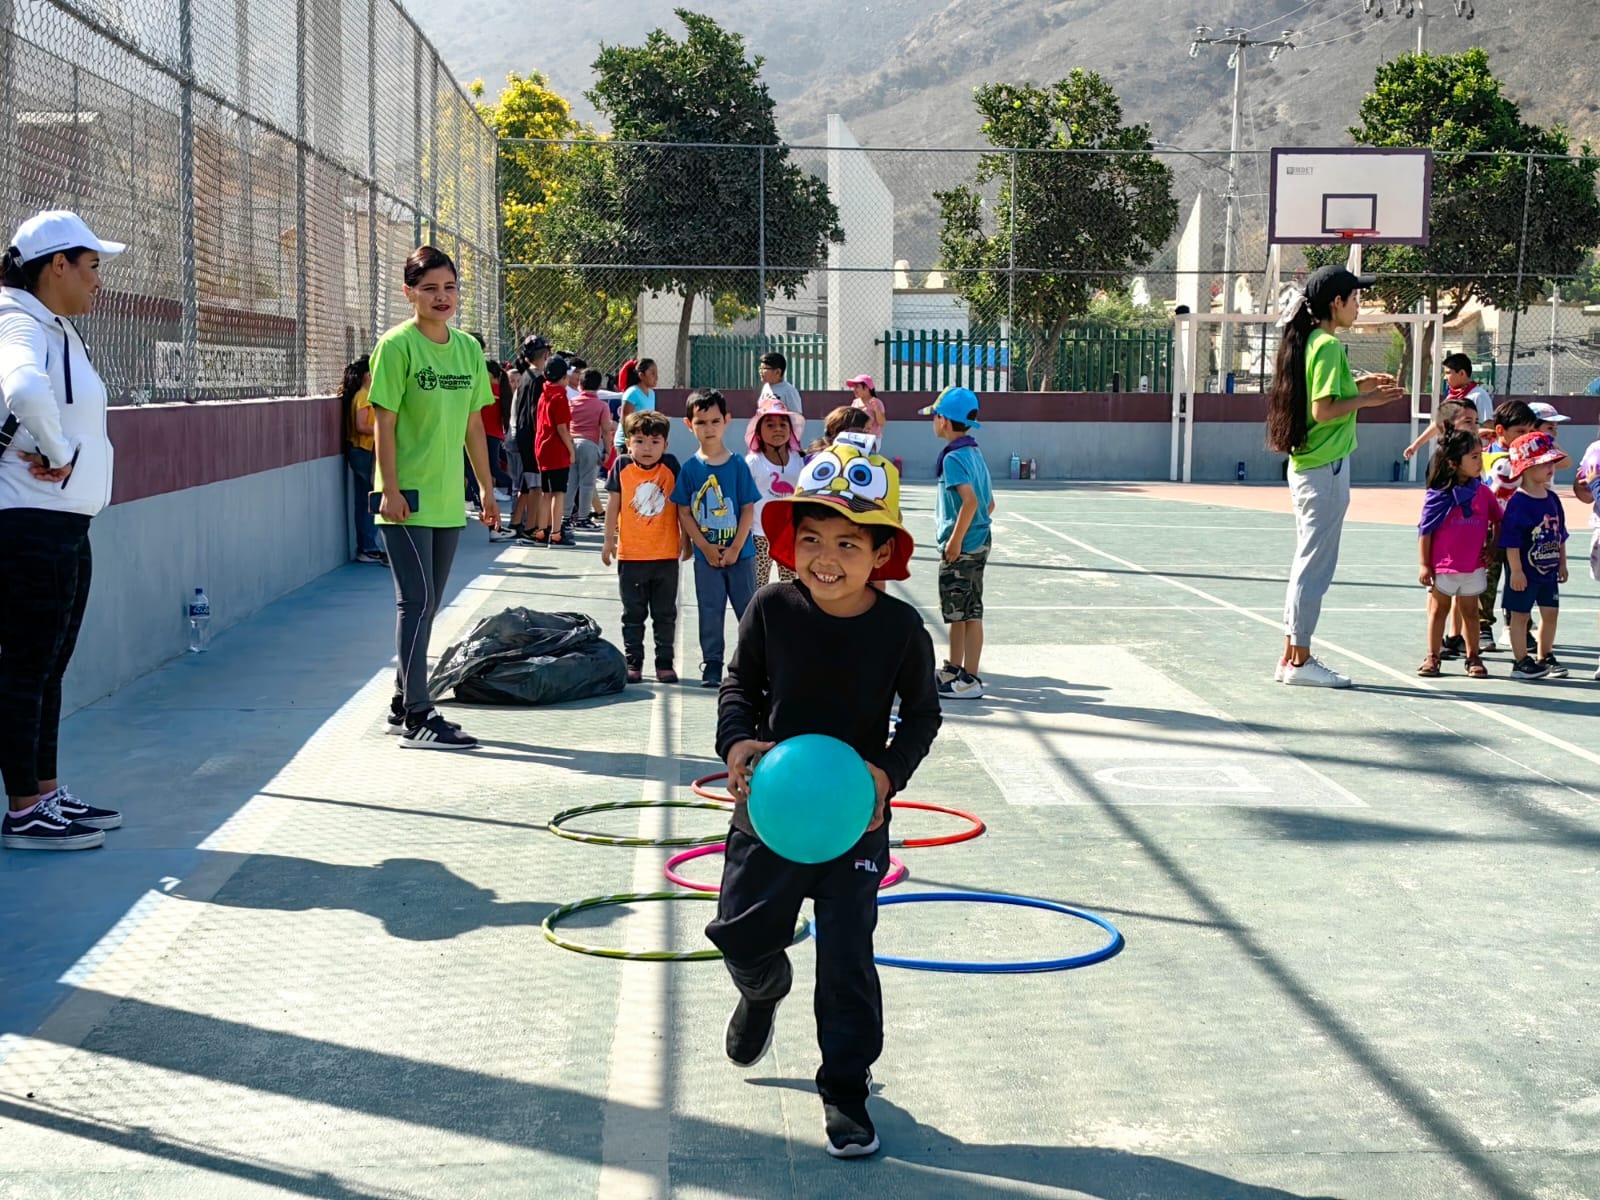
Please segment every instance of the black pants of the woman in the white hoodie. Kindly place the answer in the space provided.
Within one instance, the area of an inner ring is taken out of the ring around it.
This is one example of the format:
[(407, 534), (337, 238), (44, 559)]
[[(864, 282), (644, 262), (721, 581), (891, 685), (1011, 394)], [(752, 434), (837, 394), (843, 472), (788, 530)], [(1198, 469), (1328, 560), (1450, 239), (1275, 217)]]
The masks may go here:
[(6, 795), (56, 778), (61, 678), (90, 600), (90, 518), (0, 509), (0, 774)]

